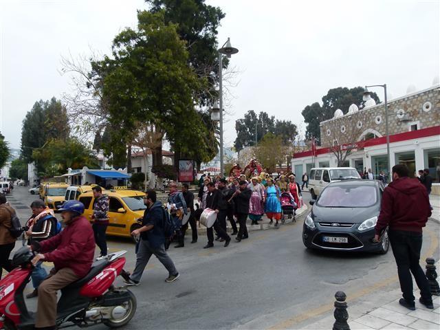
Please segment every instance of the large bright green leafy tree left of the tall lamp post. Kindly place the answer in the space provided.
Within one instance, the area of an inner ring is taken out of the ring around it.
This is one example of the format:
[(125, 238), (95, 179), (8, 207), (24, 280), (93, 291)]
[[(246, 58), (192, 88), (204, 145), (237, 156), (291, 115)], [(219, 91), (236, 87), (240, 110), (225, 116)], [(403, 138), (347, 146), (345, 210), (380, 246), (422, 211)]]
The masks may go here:
[[(164, 22), (163, 12), (138, 12), (137, 18), (136, 30), (128, 28), (115, 37), (113, 57), (95, 63), (107, 70), (103, 91), (109, 100), (109, 122), (119, 127), (111, 130), (111, 144), (104, 148), (126, 148), (135, 138), (137, 122), (150, 122), (182, 153), (203, 151), (208, 130), (194, 104), (195, 91), (206, 80), (188, 66), (186, 44), (179, 39), (177, 25)], [(153, 166), (159, 164), (162, 146), (153, 150)]]

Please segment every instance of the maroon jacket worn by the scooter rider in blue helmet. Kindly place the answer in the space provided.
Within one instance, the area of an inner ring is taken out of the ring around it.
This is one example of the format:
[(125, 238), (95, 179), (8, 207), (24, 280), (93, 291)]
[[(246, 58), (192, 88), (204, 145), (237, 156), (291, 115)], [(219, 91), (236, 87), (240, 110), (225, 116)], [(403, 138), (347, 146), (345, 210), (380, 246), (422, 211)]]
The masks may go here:
[(68, 223), (62, 232), (40, 245), (45, 261), (52, 261), (56, 270), (68, 267), (76, 275), (84, 277), (94, 261), (94, 231), (83, 216)]

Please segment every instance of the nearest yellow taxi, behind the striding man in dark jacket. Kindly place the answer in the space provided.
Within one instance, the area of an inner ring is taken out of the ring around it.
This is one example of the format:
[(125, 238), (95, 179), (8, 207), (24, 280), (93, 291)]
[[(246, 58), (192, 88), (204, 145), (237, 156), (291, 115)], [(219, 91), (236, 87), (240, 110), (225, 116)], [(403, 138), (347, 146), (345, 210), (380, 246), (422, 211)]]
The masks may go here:
[[(114, 236), (131, 237), (131, 232), (140, 228), (140, 218), (144, 217), (145, 193), (138, 190), (102, 190), (103, 195), (109, 197), (109, 226), (107, 234)], [(95, 197), (88, 191), (78, 199), (84, 204), (84, 216), (93, 222)]]

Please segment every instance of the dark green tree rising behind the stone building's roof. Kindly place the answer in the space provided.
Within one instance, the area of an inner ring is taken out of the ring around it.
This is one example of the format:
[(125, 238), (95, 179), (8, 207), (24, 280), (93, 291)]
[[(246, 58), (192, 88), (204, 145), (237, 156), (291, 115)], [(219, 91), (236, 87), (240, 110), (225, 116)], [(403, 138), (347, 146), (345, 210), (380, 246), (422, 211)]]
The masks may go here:
[[(358, 106), (363, 104), (362, 96), (364, 94), (363, 87), (338, 87), (329, 89), (327, 95), (322, 96), (322, 107), (318, 102), (314, 102), (310, 106), (304, 108), (301, 114), (307, 124), (306, 139), (310, 140), (312, 136), (316, 137), (316, 141), (320, 144), (320, 129), (319, 124), (324, 120), (333, 118), (336, 109), (341, 109), (342, 112), (348, 113), (351, 104)], [(376, 103), (380, 103), (380, 99), (375, 93), (371, 93)]]

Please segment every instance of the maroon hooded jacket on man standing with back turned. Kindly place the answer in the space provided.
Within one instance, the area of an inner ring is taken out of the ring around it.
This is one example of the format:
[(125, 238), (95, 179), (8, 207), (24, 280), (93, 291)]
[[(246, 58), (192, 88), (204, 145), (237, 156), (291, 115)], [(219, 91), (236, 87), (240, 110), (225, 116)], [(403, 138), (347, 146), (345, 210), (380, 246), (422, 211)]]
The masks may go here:
[(387, 225), (391, 230), (421, 232), (430, 216), (426, 188), (417, 179), (401, 177), (384, 190), (375, 233), (380, 234)]

